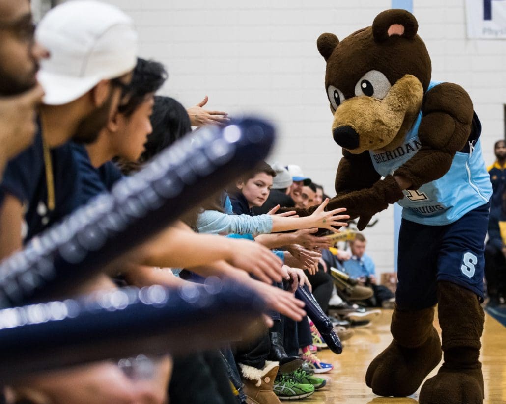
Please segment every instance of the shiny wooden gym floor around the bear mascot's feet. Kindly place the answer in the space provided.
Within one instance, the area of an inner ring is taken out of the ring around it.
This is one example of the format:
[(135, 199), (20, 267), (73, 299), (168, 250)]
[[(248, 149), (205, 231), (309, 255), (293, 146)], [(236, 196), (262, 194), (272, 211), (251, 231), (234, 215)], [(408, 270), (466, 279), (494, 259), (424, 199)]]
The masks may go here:
[[(318, 352), (323, 362), (334, 365), (334, 369), (321, 375), (327, 385), (312, 396), (301, 401), (305, 403), (346, 403), (346, 404), (408, 404), (417, 403), (419, 390), (410, 397), (378, 397), (365, 385), (365, 371), (369, 362), (388, 346), (391, 310), (382, 310), (369, 328), (356, 329), (355, 335), (344, 342), (343, 354), (335, 355), (329, 349)], [(481, 361), (485, 378), (485, 404), (506, 403), (506, 327), (488, 314), (485, 315), (485, 331), (482, 337)], [(437, 321), (436, 328), (440, 331)], [(429, 375), (437, 373), (436, 369)], [(285, 401), (288, 402), (288, 401)]]

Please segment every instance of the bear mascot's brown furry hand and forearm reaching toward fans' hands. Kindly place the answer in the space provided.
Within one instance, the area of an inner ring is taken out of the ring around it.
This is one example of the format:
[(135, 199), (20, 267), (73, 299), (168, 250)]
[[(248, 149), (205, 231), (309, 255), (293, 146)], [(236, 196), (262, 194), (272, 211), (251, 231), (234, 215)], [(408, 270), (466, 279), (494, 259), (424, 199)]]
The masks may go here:
[(371, 188), (342, 193), (330, 200), (327, 209), (346, 208), (350, 218), (360, 217), (357, 228), (363, 230), (372, 216), (404, 197), (402, 189), (391, 175), (377, 181)]

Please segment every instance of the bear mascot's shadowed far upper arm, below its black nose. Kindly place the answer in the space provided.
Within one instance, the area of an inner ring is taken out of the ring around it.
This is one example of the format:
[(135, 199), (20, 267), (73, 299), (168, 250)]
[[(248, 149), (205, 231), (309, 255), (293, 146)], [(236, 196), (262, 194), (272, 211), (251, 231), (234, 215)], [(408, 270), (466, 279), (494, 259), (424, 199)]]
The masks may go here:
[[(339, 162), (338, 172), (335, 174), (336, 196), (370, 188), (379, 178), (381, 176), (374, 169), (368, 151), (353, 155), (343, 149), (343, 158)], [(332, 207), (332, 200), (330, 200), (328, 209), (336, 209)]]

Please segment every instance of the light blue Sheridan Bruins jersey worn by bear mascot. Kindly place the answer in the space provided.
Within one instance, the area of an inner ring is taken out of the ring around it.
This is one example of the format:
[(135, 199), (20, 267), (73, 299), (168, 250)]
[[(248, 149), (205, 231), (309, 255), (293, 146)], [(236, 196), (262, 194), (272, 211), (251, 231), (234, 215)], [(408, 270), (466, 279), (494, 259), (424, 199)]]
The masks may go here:
[[(429, 89), (439, 83), (431, 82)], [(421, 147), (418, 138), (421, 118), (420, 112), (403, 144), (395, 150), (384, 153), (370, 151), (372, 164), (379, 174), (384, 177), (393, 174), (416, 154)], [(479, 121), (477, 123), (477, 130), (481, 131)], [(456, 153), (450, 169), (443, 177), (422, 185), (416, 191), (404, 191), (404, 198), (398, 201), (403, 207), (404, 219), (442, 226), (455, 222), (469, 211), (488, 202), (492, 195), (492, 184), (483, 161), (480, 138), (469, 142), (469, 146), (469, 153)]]

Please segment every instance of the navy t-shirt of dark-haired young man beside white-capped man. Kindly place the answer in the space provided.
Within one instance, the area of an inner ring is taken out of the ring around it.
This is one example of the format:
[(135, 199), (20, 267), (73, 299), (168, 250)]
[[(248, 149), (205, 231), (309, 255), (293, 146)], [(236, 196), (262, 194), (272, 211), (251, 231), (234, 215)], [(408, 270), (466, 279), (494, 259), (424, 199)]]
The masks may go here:
[(99, 193), (110, 191), (112, 186), (123, 177), (121, 171), (112, 162), (107, 162), (99, 168), (93, 167), (88, 151), (82, 144), (72, 143), (72, 153), (77, 162), (79, 172), (79, 196), (77, 206), (88, 203)]

